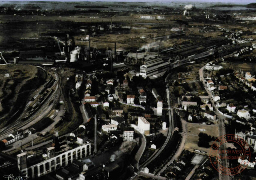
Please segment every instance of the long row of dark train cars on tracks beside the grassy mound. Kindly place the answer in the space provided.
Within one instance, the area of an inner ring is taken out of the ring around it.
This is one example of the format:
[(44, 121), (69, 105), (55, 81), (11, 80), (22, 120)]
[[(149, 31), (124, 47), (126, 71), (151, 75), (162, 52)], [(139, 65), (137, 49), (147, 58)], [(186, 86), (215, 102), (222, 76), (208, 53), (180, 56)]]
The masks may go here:
[[(35, 114), (39, 108), (46, 102), (46, 100), (49, 98), (49, 96), (53, 93), (54, 89), (47, 90), (50, 87), (52, 87), (53, 83), (55, 82), (55, 79), (53, 79), (52, 75), (50, 76), (50, 80), (44, 84), (44, 88), (39, 92), (40, 95), (42, 95), (39, 98), (39, 102), (35, 105), (35, 107), (29, 107), (29, 112), (27, 113), (26, 117), (22, 118), (21, 121), (26, 121), (29, 117), (31, 117), (33, 114)], [(45, 93), (44, 93), (45, 92)], [(32, 98), (30, 101), (34, 101), (35, 98)]]

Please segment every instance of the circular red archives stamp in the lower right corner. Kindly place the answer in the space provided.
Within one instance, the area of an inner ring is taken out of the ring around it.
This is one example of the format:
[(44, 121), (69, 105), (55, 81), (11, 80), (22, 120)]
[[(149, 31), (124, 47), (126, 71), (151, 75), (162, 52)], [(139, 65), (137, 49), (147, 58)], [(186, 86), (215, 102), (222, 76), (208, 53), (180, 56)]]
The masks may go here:
[[(228, 148), (227, 143), (233, 143), (235, 148)], [(224, 175), (235, 175), (251, 166), (251, 152), (245, 139), (233, 134), (226, 134), (216, 139), (210, 147), (210, 162), (214, 169)], [(235, 160), (236, 165), (230, 163)]]

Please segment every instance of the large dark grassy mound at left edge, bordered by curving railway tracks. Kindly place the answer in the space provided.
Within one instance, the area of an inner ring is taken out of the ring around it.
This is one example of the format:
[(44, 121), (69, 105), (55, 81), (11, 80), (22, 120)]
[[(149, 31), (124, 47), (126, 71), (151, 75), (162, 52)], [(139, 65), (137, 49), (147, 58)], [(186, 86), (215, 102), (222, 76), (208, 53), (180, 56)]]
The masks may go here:
[(0, 77), (0, 121), (4, 119), (6, 122), (6, 115), (16, 112), (27, 101), (45, 74), (31, 65), (2, 65)]

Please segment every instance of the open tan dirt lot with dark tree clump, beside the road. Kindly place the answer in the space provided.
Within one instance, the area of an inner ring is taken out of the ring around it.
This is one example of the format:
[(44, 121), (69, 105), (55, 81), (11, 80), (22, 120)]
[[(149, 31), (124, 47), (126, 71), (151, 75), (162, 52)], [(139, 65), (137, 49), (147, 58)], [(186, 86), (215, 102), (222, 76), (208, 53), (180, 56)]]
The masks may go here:
[[(195, 124), (187, 123), (187, 139), (185, 143), (185, 149), (193, 151), (198, 149), (201, 151), (206, 151), (209, 154), (210, 148), (198, 147), (198, 134), (200, 132), (206, 133), (207, 135), (218, 137), (218, 126), (216, 125), (206, 125), (206, 124)], [(213, 141), (209, 142), (212, 145)]]

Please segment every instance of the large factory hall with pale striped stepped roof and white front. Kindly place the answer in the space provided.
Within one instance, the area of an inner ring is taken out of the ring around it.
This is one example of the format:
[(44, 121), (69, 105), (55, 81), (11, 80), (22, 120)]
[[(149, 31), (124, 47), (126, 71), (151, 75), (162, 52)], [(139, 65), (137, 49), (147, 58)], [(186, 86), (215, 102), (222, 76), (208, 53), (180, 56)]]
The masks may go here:
[(168, 62), (163, 61), (161, 58), (153, 58), (147, 61), (145, 65), (140, 66), (140, 76), (143, 78), (153, 77), (169, 69), (170, 64)]

